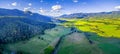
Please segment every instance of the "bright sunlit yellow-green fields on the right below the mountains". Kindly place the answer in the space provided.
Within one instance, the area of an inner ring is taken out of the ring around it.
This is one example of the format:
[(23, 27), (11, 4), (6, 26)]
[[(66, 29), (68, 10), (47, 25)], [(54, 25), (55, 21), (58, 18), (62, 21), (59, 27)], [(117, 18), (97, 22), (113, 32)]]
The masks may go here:
[(120, 38), (120, 19), (61, 19), (66, 20), (63, 25), (75, 27), (84, 32), (94, 32), (102, 37)]

